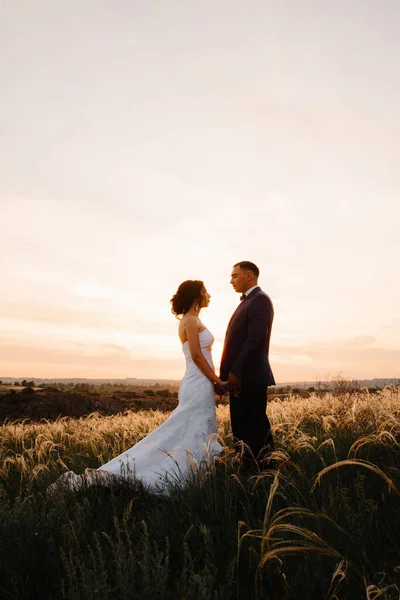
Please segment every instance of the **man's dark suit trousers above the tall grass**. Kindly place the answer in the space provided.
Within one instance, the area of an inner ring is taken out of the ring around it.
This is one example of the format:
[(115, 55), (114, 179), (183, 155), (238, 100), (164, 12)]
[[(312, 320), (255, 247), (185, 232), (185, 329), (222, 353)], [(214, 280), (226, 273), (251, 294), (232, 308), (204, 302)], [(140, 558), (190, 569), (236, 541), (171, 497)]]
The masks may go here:
[[(259, 460), (272, 452), (274, 442), (266, 412), (267, 386), (242, 381), (240, 393), (229, 395), (229, 406), (234, 442), (244, 442)], [(237, 450), (239, 446), (236, 445)]]

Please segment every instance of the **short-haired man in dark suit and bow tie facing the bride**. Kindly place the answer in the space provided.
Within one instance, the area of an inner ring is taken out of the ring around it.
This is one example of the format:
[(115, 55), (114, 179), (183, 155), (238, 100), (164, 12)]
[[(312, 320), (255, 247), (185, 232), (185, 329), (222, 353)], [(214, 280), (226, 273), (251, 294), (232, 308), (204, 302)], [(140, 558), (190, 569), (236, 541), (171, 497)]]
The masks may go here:
[(228, 380), (236, 449), (244, 442), (258, 461), (274, 449), (266, 408), (267, 387), (275, 384), (268, 360), (274, 309), (257, 284), (259, 273), (248, 261), (232, 269), (231, 284), (242, 295), (228, 324), (220, 369), (220, 378)]

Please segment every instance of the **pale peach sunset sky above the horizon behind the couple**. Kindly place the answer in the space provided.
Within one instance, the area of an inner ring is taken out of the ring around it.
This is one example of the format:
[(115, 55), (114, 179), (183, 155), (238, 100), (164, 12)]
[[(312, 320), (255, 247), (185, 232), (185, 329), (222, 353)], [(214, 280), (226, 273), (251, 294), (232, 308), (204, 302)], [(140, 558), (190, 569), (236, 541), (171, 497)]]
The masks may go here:
[(278, 382), (400, 376), (398, 0), (2, 0), (0, 377), (219, 364), (255, 262)]

